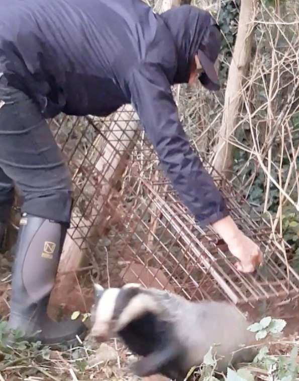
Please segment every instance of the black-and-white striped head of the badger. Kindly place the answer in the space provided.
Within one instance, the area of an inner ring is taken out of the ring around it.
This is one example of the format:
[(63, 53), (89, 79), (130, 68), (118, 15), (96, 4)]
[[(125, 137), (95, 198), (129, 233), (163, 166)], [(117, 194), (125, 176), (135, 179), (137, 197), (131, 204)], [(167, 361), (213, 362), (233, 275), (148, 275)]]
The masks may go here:
[(138, 283), (128, 283), (121, 288), (107, 289), (94, 284), (94, 296), (90, 335), (98, 342), (111, 339), (143, 315), (157, 314), (159, 311), (154, 298)]

